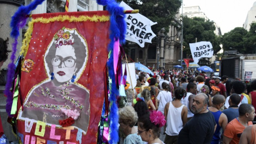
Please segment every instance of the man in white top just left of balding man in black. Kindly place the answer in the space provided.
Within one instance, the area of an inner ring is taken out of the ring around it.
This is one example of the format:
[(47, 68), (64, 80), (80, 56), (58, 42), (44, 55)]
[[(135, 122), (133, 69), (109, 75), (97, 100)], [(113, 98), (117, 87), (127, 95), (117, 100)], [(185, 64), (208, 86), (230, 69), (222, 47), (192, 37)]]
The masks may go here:
[(187, 85), (187, 95), (181, 99), (181, 103), (188, 108), (188, 120), (191, 119), (194, 114), (191, 112), (191, 106), (193, 103), (193, 98), (197, 92), (197, 86), (195, 83), (188, 83)]

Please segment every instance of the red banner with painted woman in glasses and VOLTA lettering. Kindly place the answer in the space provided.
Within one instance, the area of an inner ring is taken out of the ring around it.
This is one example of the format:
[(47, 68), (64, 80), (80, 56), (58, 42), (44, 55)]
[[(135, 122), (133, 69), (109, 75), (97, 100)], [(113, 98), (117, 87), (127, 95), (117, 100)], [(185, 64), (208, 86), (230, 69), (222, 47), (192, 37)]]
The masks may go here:
[(22, 46), (19, 97), (23, 107), (18, 105), (17, 117), (21, 141), (97, 143), (107, 94), (108, 12), (32, 17)]

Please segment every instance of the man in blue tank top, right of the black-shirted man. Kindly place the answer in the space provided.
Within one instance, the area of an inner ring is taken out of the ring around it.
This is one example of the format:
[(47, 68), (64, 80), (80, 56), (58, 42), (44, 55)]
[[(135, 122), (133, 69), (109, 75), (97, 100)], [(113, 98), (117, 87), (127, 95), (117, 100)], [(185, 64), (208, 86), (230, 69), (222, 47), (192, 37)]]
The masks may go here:
[(220, 141), (220, 129), (225, 130), (226, 125), (228, 124), (228, 118), (225, 114), (220, 111), (220, 108), (224, 106), (226, 99), (223, 95), (217, 94), (212, 99), (212, 106), (208, 109), (214, 116), (217, 128), (214, 132), (211, 144), (218, 144)]

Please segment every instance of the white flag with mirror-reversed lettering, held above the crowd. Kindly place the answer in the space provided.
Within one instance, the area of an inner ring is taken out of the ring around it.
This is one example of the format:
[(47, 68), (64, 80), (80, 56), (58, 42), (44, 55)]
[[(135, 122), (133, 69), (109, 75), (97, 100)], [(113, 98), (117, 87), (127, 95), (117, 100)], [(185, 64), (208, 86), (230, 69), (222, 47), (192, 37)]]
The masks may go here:
[(201, 58), (211, 58), (213, 55), (211, 42), (190, 43), (189, 47), (195, 63)]

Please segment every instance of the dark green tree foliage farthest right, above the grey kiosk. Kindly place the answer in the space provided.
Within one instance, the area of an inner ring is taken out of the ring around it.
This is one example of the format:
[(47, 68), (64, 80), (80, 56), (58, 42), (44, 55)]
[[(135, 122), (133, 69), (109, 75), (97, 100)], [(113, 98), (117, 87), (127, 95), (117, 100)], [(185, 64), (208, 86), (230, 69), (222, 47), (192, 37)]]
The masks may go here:
[(230, 50), (229, 47), (236, 49), (240, 53), (244, 53), (244, 40), (247, 35), (247, 31), (242, 27), (236, 27), (235, 29), (225, 33), (221, 37), (222, 48), (224, 51)]

